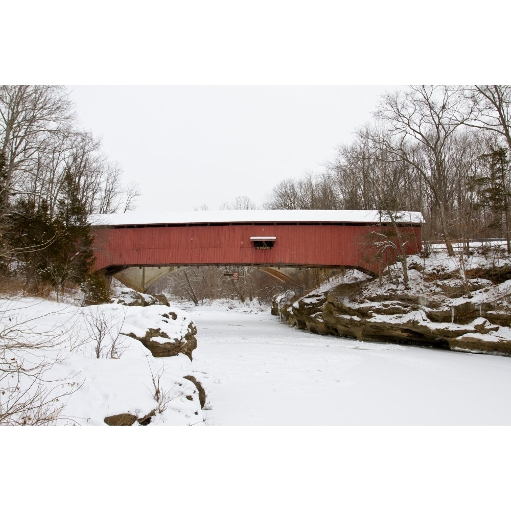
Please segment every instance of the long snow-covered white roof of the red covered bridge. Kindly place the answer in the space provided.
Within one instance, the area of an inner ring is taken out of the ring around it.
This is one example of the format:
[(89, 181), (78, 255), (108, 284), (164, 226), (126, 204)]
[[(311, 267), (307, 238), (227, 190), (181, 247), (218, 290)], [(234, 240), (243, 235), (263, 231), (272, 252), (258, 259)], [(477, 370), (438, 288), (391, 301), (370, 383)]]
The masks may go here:
[[(422, 213), (401, 211), (396, 213), (398, 223), (424, 223)], [(381, 218), (381, 219), (380, 219)], [(90, 215), (92, 225), (166, 225), (245, 222), (299, 222), (299, 223), (378, 223), (388, 222), (387, 215), (375, 210), (221, 210), (221, 211), (169, 211), (162, 213), (112, 213)]]

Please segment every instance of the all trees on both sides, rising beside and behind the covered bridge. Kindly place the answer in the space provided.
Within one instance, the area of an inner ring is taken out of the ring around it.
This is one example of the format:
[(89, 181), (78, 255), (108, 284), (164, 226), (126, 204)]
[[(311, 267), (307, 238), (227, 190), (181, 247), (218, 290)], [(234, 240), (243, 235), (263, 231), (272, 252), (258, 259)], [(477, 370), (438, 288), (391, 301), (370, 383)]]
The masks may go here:
[[(322, 173), (281, 181), (263, 207), (421, 211), (424, 240), (451, 255), (455, 240), (488, 237), (511, 253), (510, 105), (510, 85), (388, 92)], [(139, 195), (73, 108), (63, 86), (0, 86), (0, 273), (57, 290), (100, 286), (87, 216), (129, 211)]]

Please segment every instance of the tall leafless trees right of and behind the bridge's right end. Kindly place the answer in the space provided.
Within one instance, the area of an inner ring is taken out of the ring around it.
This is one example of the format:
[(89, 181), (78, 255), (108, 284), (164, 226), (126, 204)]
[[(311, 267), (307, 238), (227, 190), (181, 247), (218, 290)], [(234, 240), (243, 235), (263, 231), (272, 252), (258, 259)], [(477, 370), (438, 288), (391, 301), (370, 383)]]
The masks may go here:
[(425, 241), (505, 238), (511, 253), (511, 86), (412, 85), (320, 174), (278, 183), (268, 209), (421, 211)]

